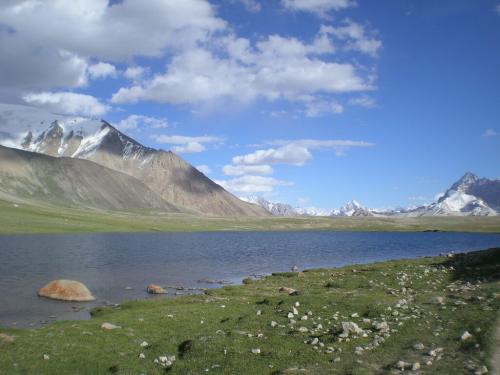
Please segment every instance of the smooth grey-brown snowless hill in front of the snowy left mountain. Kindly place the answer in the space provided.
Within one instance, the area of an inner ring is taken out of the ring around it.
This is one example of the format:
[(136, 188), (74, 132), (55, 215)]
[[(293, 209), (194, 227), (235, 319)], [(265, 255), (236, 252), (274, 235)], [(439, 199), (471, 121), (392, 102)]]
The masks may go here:
[(139, 180), (87, 160), (0, 146), (0, 197), (113, 210), (180, 210)]

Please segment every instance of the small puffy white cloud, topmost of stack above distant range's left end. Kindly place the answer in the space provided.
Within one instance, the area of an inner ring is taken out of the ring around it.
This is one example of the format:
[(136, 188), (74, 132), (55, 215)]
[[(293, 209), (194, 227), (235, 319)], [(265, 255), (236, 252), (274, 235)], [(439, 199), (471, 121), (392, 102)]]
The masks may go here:
[(300, 166), (311, 159), (312, 154), (307, 148), (289, 144), (279, 148), (257, 150), (251, 154), (235, 156), (232, 162), (235, 165), (290, 164)]

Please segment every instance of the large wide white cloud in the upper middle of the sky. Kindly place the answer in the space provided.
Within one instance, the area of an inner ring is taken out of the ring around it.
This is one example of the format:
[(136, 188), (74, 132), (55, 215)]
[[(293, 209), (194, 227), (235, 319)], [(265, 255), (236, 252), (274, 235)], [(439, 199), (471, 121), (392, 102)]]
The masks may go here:
[(271, 35), (253, 46), (247, 39), (231, 36), (221, 39), (221, 48), (227, 57), (204, 48), (184, 51), (173, 58), (165, 74), (121, 88), (112, 101), (191, 105), (228, 99), (311, 101), (320, 93), (324, 96), (373, 89), (372, 79), (362, 77), (354, 65), (319, 58), (334, 52), (323, 32), (309, 44)]

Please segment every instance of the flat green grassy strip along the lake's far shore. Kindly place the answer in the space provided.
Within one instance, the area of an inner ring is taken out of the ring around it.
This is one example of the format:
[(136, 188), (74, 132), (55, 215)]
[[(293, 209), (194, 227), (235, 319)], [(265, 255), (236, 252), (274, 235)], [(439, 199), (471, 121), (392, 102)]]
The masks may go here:
[(500, 217), (210, 218), (159, 212), (110, 212), (0, 200), (0, 234), (222, 230), (500, 232)]

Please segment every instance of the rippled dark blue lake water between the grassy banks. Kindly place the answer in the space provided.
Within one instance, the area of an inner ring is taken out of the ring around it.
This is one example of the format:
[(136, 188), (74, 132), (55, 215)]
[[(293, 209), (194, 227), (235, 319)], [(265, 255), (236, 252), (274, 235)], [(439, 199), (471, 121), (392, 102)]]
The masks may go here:
[[(89, 309), (150, 296), (149, 283), (213, 287), (251, 274), (336, 267), (500, 246), (500, 234), (210, 232), (0, 236), (0, 325), (85, 319)], [(37, 291), (54, 279), (86, 284), (92, 303), (51, 301)], [(125, 290), (131, 287), (132, 290)], [(170, 293), (173, 294), (173, 290)]]

